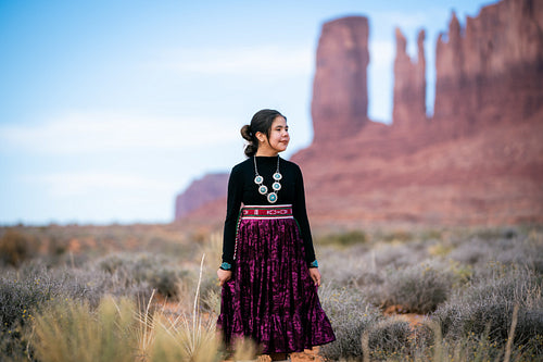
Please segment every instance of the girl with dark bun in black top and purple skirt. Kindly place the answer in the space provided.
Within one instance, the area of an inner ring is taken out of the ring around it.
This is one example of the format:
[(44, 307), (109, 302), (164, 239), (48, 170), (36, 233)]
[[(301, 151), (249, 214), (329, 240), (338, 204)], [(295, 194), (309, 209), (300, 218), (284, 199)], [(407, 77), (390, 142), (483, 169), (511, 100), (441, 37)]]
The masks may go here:
[(318, 300), (302, 173), (278, 155), (290, 140), (287, 118), (258, 111), (241, 135), (248, 159), (228, 182), (217, 327), (229, 347), (250, 338), (273, 361), (286, 360), (336, 337)]

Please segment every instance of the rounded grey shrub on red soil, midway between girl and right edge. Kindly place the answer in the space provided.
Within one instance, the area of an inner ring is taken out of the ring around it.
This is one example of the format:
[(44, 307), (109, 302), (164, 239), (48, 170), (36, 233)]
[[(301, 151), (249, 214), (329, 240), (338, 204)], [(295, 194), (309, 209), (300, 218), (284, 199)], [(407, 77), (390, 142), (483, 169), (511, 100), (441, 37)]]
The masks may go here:
[(401, 305), (402, 312), (430, 313), (443, 303), (451, 291), (449, 272), (428, 264), (391, 270), (371, 300), (382, 308)]

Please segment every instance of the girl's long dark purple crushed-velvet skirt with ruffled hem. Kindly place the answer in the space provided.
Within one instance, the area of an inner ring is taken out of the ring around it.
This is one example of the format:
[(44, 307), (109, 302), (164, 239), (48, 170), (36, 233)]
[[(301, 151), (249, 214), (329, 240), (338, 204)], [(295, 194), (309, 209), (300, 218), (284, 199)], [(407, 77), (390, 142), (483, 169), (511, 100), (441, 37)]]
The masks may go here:
[(228, 348), (238, 338), (250, 338), (264, 354), (301, 352), (336, 339), (294, 219), (241, 217), (217, 329)]

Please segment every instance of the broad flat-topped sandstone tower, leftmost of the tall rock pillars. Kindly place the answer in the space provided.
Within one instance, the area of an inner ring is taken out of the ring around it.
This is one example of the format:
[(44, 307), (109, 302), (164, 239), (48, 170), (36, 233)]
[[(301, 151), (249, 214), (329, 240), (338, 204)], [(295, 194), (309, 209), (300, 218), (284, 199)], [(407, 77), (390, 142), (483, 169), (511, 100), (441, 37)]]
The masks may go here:
[(324, 24), (313, 84), (314, 141), (352, 136), (367, 122), (368, 33), (362, 16)]

